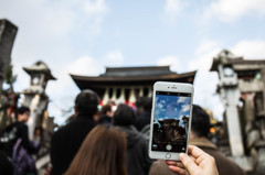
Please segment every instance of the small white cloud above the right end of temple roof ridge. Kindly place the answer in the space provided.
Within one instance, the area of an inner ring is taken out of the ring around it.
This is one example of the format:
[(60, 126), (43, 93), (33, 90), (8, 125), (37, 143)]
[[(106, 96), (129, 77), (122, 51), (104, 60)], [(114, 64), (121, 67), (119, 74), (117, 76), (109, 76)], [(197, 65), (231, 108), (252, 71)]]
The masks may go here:
[(157, 59), (158, 66), (170, 66), (170, 69), (173, 72), (182, 72), (183, 68), (177, 56), (169, 55), (162, 58)]

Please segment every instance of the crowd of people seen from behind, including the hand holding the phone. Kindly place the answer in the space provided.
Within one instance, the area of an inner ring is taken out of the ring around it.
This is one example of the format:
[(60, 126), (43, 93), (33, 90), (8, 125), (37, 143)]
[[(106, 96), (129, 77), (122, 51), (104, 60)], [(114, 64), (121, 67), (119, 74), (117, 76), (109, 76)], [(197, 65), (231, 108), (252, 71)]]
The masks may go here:
[[(52, 136), (52, 166), (47, 175), (244, 175), (237, 164), (220, 154), (208, 140), (210, 119), (199, 106), (193, 106), (188, 154), (181, 153), (177, 162), (148, 156), (151, 98), (138, 98), (135, 109), (110, 101), (99, 111), (98, 103), (99, 98), (92, 90), (77, 95), (75, 114)], [(25, 124), (29, 117), (29, 108), (19, 108), (17, 122), (1, 135), (0, 172), (7, 175), (38, 174), (30, 154), (39, 145), (29, 140)], [(20, 157), (21, 152), (26, 156)]]

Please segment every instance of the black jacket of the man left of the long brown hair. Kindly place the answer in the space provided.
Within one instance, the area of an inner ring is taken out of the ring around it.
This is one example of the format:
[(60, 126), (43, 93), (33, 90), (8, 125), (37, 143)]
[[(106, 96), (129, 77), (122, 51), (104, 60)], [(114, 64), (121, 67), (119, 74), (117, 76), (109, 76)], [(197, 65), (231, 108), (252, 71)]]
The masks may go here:
[(88, 132), (95, 127), (93, 117), (80, 114), (52, 136), (52, 175), (67, 171)]

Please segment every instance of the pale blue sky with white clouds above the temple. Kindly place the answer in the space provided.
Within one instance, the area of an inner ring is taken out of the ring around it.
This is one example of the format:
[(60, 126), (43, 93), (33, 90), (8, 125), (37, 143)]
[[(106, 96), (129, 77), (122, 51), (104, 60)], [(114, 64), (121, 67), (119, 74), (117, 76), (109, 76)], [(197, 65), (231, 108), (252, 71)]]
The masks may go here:
[(39, 59), (56, 81), (47, 85), (49, 112), (78, 94), (68, 74), (97, 76), (106, 66), (170, 65), (198, 70), (194, 103), (222, 119), (212, 58), (223, 48), (247, 59), (265, 58), (265, 0), (1, 0), (0, 19), (19, 26), (12, 64), (15, 90), (29, 87), (22, 66)]

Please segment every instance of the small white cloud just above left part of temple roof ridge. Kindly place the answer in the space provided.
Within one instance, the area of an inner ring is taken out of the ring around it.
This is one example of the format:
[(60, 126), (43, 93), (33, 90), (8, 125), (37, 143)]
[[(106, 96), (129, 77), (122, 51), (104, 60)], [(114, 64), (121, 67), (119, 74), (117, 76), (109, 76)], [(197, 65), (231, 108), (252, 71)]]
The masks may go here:
[(120, 50), (115, 50), (107, 53), (104, 57), (104, 63), (108, 66), (120, 66), (124, 64), (124, 55)]

